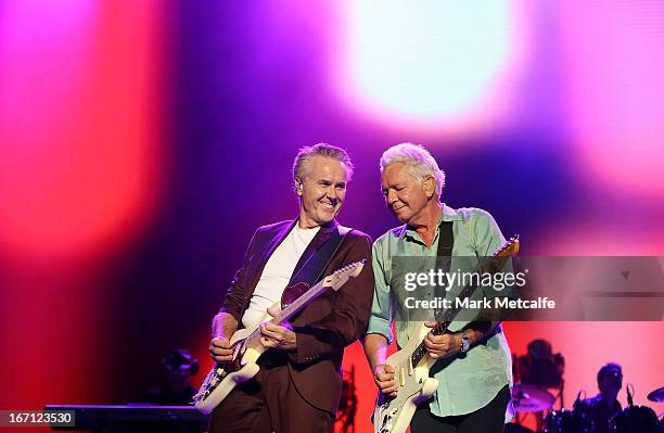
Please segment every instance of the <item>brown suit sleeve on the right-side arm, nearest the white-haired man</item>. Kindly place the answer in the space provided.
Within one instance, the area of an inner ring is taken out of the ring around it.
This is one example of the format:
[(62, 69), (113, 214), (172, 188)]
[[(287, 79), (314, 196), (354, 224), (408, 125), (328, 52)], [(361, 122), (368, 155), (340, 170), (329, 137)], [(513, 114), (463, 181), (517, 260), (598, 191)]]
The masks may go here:
[(290, 354), (297, 364), (339, 353), (363, 335), (371, 313), (373, 297), (373, 270), (371, 266), (371, 239), (355, 237), (343, 265), (366, 259), (360, 275), (352, 278), (337, 292), (333, 310), (321, 320), (295, 328), (297, 348)]

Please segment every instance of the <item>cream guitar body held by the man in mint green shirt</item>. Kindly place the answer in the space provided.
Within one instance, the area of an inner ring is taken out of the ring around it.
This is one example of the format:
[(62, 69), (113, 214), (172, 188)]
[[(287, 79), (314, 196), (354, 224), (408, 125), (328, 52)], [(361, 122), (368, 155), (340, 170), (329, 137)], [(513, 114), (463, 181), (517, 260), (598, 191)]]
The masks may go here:
[(373, 411), (374, 433), (406, 432), (418, 405), (436, 392), (438, 381), (429, 377), (435, 360), (426, 356), (417, 366), (410, 366), (410, 356), (429, 331), (431, 328), (426, 328), (423, 322), (419, 323), (406, 347), (387, 358), (386, 364), (394, 367), (397, 396), (390, 399), (382, 393), (379, 395)]

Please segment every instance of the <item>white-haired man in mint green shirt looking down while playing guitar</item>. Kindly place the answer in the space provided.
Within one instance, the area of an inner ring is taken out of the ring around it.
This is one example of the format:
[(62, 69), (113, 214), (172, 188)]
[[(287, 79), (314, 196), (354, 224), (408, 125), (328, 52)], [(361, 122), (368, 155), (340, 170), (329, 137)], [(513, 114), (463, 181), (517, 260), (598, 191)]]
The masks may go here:
[[(398, 305), (394, 257), (481, 258), (505, 239), (487, 212), (452, 209), (440, 202), (445, 173), (424, 148), (394, 145), (383, 153), (380, 167), (385, 204), (404, 225), (373, 244), (375, 288), (365, 352), (380, 391), (394, 397), (398, 390), (394, 368), (385, 364), (392, 326), (396, 320), (397, 344), (404, 347), (416, 320)], [(501, 432), (512, 378), (510, 349), (500, 323), (457, 320), (450, 330), (454, 332), (442, 335), (430, 332), (424, 340), (429, 354), (437, 359), (430, 373), (438, 380), (438, 387), (419, 405), (411, 432)]]

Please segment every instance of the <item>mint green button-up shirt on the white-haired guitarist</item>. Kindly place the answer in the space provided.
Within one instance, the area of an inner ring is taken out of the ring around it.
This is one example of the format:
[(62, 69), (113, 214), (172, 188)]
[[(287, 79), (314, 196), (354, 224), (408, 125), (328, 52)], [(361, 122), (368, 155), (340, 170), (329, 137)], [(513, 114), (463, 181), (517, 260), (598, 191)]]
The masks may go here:
[[(455, 256), (463, 256), (462, 262), (468, 264), (468, 257), (490, 256), (505, 242), (496, 221), (485, 211), (455, 211), (443, 205), (440, 220), (454, 221), (455, 243), (450, 269), (457, 269)], [(433, 244), (427, 247), (422, 238), (406, 225), (390, 230), (373, 243), (375, 288), (367, 333), (382, 334), (392, 343), (392, 324), (396, 321), (397, 344), (404, 347), (408, 343), (414, 322), (408, 320), (408, 310), (396, 305), (398, 294), (391, 288), (392, 257), (435, 257), (437, 246), (438, 229)], [(458, 293), (461, 289), (452, 288), (451, 291)], [(432, 293), (426, 295), (433, 296)], [(430, 319), (433, 320), (433, 313)], [(461, 330), (465, 324), (468, 321), (454, 321), (450, 330)], [(485, 343), (471, 347), (464, 357), (439, 359), (431, 370), (438, 380), (438, 390), (430, 402), (432, 413), (438, 417), (457, 416), (486, 406), (505, 385), (511, 387), (511, 359), (510, 347), (501, 330)]]

